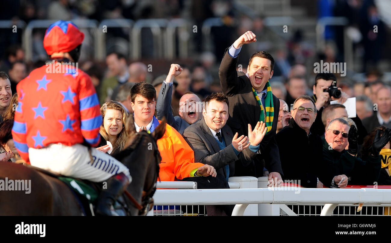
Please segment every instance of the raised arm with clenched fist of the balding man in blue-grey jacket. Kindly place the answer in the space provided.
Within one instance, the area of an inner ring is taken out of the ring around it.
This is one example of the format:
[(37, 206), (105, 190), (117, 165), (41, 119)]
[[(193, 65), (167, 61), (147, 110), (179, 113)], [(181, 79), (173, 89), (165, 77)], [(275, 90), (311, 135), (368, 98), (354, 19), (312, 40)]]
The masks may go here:
[(156, 102), (158, 120), (162, 120), (163, 117), (165, 117), (167, 124), (169, 124), (171, 127), (174, 127), (176, 130), (179, 129), (179, 124), (176, 123), (171, 110), (172, 85), (174, 82), (174, 77), (181, 74), (181, 72), (182, 68), (178, 64), (171, 64), (169, 74), (161, 85), (158, 100)]

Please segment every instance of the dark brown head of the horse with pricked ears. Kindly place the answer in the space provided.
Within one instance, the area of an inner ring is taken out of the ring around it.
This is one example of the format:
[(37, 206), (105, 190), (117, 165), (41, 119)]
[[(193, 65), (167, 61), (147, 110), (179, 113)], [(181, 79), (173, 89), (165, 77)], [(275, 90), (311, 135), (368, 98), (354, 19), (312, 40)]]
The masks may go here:
[(131, 199), (131, 204), (128, 204), (131, 207), (131, 214), (145, 215), (153, 205), (152, 196), (156, 191), (161, 161), (156, 141), (164, 135), (166, 121), (163, 118), (152, 134), (146, 131), (136, 132), (134, 118), (130, 115), (127, 129), (128, 143), (114, 157), (129, 168), (132, 176), (132, 182), (127, 187), (127, 192), (134, 198)]

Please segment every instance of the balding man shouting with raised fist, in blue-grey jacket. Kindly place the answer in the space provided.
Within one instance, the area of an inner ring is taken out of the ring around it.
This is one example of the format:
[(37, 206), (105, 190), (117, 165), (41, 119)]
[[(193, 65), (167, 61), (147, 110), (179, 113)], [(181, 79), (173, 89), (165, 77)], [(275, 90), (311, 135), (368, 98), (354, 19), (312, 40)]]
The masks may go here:
[(179, 100), (179, 116), (174, 117), (172, 114), (172, 84), (174, 83), (174, 77), (180, 75), (182, 70), (179, 64), (171, 64), (169, 74), (161, 85), (156, 102), (157, 118), (161, 120), (165, 117), (167, 123), (180, 134), (183, 134), (188, 126), (201, 119), (202, 112), (201, 99), (194, 93), (187, 92)]

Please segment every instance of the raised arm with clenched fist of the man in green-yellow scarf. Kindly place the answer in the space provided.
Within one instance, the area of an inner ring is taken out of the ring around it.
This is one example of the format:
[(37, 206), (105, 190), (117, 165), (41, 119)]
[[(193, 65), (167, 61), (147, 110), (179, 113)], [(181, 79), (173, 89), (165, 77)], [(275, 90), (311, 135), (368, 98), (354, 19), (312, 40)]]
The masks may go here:
[(244, 86), (244, 83), (238, 78), (236, 71), (237, 57), (242, 45), (255, 41), (255, 34), (247, 31), (226, 50), (219, 68), (220, 84), (225, 95), (233, 96)]

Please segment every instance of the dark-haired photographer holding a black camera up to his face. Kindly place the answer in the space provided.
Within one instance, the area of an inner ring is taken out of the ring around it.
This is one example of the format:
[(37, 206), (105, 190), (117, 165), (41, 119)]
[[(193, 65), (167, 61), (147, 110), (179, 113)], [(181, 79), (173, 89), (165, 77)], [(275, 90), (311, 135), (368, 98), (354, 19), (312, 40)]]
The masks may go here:
[[(313, 99), (315, 100), (317, 109), (317, 116), (310, 131), (322, 137), (325, 135), (325, 125), (322, 122), (323, 109), (330, 105), (330, 101), (332, 100), (338, 100), (340, 104), (343, 104), (350, 97), (343, 92), (341, 88), (337, 87), (337, 78), (333, 73), (318, 73), (315, 77), (315, 85), (312, 89), (314, 93)], [(368, 132), (364, 125), (362, 125), (362, 121), (359, 117), (356, 116), (352, 118), (352, 120), (357, 125), (359, 133), (358, 143), (359, 145), (362, 145), (363, 139)]]

